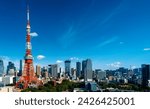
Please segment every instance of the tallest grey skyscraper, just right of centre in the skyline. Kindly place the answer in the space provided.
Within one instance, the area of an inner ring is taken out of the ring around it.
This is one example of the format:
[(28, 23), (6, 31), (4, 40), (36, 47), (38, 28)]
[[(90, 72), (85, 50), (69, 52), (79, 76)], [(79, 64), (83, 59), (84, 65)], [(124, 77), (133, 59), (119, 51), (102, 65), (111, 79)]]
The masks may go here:
[(93, 80), (93, 70), (92, 70), (92, 61), (91, 59), (85, 60), (85, 68), (84, 68), (84, 81), (92, 81)]

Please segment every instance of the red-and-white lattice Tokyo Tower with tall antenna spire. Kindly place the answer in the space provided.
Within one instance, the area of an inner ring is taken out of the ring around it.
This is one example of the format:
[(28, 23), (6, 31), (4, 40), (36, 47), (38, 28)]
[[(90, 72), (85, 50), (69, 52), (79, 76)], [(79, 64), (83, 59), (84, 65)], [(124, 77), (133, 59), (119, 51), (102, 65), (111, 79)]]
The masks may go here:
[(26, 35), (26, 53), (24, 56), (24, 69), (23, 74), (19, 81), (16, 83), (16, 88), (26, 89), (28, 87), (38, 87), (42, 85), (42, 81), (39, 80), (34, 72), (31, 36), (30, 36), (30, 17), (29, 17), (29, 6), (27, 7), (27, 35)]

